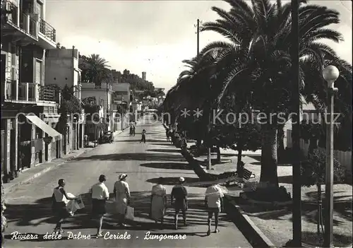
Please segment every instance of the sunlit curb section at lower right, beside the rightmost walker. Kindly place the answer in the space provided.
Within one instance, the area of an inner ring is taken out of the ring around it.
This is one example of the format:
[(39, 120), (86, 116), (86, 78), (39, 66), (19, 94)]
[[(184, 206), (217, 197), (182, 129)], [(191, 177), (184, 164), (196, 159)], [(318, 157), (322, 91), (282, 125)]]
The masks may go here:
[(239, 230), (243, 233), (247, 240), (253, 245), (253, 247), (276, 247), (273, 242), (271, 242), (268, 237), (266, 237), (263, 232), (253, 223), (249, 215), (246, 215), (243, 210), (230, 199), (229, 196), (225, 196), (225, 200), (229, 205), (229, 210), (234, 214), (235, 222)]

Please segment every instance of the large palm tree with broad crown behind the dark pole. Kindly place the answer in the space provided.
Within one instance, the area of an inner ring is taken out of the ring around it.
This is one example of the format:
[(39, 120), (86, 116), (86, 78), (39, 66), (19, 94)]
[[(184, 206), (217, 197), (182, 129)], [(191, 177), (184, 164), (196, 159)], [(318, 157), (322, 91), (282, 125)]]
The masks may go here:
[[(253, 0), (251, 5), (244, 0), (225, 1), (230, 4), (230, 11), (213, 7), (220, 19), (203, 24), (201, 30), (220, 33), (228, 42), (210, 43), (201, 54), (222, 54), (217, 64), (222, 65), (219, 68), (227, 73), (220, 76), (224, 88), (219, 100), (233, 92), (239, 108), (251, 102), (254, 109), (263, 112), (267, 117), (265, 124), (261, 125), (263, 141), (260, 180), (278, 185), (277, 116), (292, 112), (291, 91), (294, 82), (289, 55), (292, 38), (291, 4), (282, 4), (280, 0), (275, 4), (271, 4), (269, 0)], [(299, 6), (301, 95), (324, 104), (325, 82), (321, 75), (316, 75), (315, 78), (315, 83), (321, 85), (321, 88), (316, 88), (318, 92), (305, 90), (313, 84), (313, 81), (306, 80), (306, 61), (310, 60), (311, 66), (319, 73), (327, 60), (338, 61), (333, 49), (320, 40), (342, 40), (340, 33), (326, 28), (327, 25), (340, 22), (339, 13), (325, 6), (304, 5), (305, 3), (306, 1), (301, 1)]]

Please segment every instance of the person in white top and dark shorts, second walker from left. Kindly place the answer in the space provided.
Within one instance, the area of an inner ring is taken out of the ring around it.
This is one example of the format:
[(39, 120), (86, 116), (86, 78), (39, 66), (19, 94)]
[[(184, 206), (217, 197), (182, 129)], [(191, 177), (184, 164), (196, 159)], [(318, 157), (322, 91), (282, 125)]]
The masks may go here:
[(96, 237), (103, 237), (103, 217), (104, 214), (107, 213), (105, 205), (109, 199), (109, 191), (107, 186), (104, 184), (105, 181), (107, 181), (107, 177), (100, 175), (99, 182), (94, 184), (90, 189), (90, 194), (92, 197), (92, 218), (96, 218), (98, 222)]

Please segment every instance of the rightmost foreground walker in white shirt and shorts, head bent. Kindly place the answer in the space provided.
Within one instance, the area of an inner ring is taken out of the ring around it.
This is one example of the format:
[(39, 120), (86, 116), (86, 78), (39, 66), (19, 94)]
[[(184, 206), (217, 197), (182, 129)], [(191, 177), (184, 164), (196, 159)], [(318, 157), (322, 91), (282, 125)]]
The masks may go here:
[(223, 194), (219, 184), (211, 185), (206, 189), (205, 193), (205, 205), (208, 208), (208, 231), (207, 235), (211, 234), (211, 220), (213, 213), (215, 213), (215, 233), (220, 232), (218, 230), (218, 215), (223, 209)]

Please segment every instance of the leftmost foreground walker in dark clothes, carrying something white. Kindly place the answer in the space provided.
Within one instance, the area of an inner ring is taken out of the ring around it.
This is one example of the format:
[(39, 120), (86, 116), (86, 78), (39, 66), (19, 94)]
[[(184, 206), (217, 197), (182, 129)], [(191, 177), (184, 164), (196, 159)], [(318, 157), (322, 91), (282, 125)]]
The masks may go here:
[(53, 203), (53, 211), (56, 215), (56, 227), (54, 228), (54, 232), (62, 233), (64, 230), (61, 228), (61, 223), (68, 218), (68, 211), (66, 210), (66, 204), (69, 200), (76, 199), (76, 197), (69, 197), (66, 194), (64, 189), (65, 187), (65, 180), (59, 179), (58, 187), (54, 188), (52, 194), (52, 203)]

